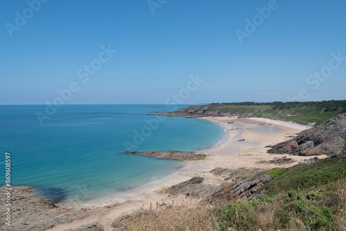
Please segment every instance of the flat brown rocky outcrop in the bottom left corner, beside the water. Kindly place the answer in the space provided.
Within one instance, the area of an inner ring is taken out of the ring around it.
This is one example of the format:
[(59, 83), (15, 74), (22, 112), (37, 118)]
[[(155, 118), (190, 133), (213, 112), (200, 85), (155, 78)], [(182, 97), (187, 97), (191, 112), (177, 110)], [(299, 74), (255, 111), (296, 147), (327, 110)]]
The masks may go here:
[[(42, 231), (56, 225), (84, 219), (93, 214), (91, 210), (77, 210), (60, 207), (43, 197), (28, 186), (0, 187), (1, 202), (5, 202), (5, 193), (10, 192), (10, 206), (0, 205), (0, 230)], [(10, 226), (6, 225), (5, 211), (10, 208)], [(100, 212), (95, 210), (93, 212)]]

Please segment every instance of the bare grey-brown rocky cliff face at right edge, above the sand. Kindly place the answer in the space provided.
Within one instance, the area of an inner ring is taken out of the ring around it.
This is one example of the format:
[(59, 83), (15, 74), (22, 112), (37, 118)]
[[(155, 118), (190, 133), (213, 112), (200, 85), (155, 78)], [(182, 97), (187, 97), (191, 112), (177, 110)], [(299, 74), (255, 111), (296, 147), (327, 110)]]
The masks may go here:
[(269, 153), (299, 156), (340, 154), (346, 145), (346, 113), (325, 124), (302, 131), (295, 138), (273, 145)]

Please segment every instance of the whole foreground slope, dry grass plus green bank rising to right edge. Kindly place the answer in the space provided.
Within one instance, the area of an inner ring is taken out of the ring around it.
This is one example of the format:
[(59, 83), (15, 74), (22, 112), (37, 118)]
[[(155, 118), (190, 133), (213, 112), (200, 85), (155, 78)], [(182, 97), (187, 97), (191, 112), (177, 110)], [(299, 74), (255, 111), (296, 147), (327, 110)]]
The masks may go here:
[[(156, 204), (112, 223), (115, 230), (346, 230), (346, 157), (276, 167), (247, 202)], [(263, 190), (259, 190), (259, 192)], [(108, 230), (108, 229), (107, 229)], [(109, 229), (111, 230), (111, 229)]]

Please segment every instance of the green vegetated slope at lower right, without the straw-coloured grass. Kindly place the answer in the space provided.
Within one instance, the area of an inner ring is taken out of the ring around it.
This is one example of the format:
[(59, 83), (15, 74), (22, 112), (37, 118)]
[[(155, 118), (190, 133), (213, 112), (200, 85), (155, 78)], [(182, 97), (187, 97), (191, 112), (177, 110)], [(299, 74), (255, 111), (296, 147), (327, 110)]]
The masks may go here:
[(266, 173), (266, 194), (224, 206), (220, 230), (345, 230), (345, 156)]

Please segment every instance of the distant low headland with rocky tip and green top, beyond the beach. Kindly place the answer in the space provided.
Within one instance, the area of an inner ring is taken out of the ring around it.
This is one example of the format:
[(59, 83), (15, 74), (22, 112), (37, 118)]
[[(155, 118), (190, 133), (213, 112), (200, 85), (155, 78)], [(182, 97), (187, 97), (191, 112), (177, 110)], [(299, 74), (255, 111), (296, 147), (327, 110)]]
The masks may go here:
[(268, 118), (309, 126), (323, 124), (339, 113), (346, 112), (346, 100), (322, 102), (230, 102), (183, 107), (162, 115), (186, 118), (235, 116)]

